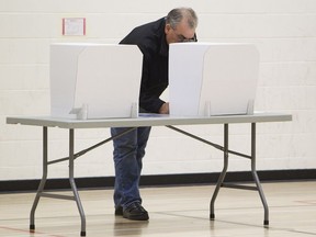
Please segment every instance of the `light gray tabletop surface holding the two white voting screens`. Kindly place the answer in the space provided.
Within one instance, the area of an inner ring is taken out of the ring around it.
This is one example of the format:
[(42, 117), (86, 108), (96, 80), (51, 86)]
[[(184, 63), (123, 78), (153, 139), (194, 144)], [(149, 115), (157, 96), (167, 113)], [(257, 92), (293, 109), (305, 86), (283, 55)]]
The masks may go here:
[(256, 112), (252, 115), (225, 115), (211, 117), (174, 117), (160, 114), (139, 114), (137, 119), (71, 120), (50, 116), (12, 116), (8, 124), (60, 128), (137, 127), (193, 124), (232, 124), (292, 121), (291, 114)]

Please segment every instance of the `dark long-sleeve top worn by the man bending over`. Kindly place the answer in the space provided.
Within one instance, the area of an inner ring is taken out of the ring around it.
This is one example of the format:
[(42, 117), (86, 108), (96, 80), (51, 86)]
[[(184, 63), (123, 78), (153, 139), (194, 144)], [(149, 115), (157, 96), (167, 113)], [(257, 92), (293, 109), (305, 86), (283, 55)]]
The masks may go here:
[(137, 45), (144, 55), (139, 106), (158, 113), (165, 101), (159, 97), (168, 87), (169, 46), (165, 34), (165, 18), (135, 27), (120, 44)]

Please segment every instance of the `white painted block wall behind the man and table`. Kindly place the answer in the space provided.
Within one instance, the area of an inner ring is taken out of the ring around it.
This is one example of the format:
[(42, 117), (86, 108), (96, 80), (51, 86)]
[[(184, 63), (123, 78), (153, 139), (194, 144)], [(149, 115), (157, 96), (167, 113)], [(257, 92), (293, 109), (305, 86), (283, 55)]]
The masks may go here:
[[(200, 16), (200, 42), (256, 43), (260, 50), (257, 111), (293, 114), (293, 122), (258, 125), (258, 169), (316, 168), (316, 1), (315, 0), (0, 0), (0, 180), (42, 176), (42, 128), (7, 125), (7, 116), (49, 114), (49, 44), (117, 43), (134, 26), (174, 7)], [(86, 36), (63, 36), (63, 18), (86, 18)], [(168, 92), (165, 97), (168, 97)], [(187, 126), (222, 143), (222, 126)], [(249, 150), (249, 125), (234, 125), (230, 146)], [(49, 129), (49, 157), (67, 156), (67, 131)], [(76, 150), (109, 136), (109, 129), (76, 133)], [(77, 161), (77, 177), (113, 176), (112, 144)], [(144, 174), (218, 172), (222, 154), (165, 127), (154, 127)], [(248, 170), (232, 159), (229, 170)], [(49, 177), (67, 177), (67, 165)]]

